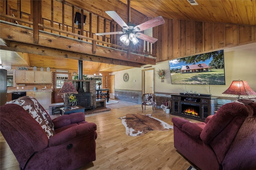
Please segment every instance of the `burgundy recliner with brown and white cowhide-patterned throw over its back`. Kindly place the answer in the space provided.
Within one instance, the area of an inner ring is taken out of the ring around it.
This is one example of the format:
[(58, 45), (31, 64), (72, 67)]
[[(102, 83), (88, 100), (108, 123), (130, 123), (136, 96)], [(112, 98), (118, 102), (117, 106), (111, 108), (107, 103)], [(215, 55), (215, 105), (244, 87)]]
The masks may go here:
[(73, 170), (96, 160), (96, 124), (82, 112), (52, 120), (25, 96), (0, 107), (0, 128), (20, 169)]

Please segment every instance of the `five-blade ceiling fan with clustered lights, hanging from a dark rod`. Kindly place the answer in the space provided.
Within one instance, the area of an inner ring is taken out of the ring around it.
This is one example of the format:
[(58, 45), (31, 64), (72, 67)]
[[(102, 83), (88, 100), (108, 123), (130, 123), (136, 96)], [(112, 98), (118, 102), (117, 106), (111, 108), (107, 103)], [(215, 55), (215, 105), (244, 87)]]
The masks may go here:
[(139, 39), (143, 39), (150, 43), (155, 43), (157, 41), (156, 38), (150, 37), (146, 34), (140, 33), (145, 29), (156, 27), (158, 25), (164, 24), (165, 21), (162, 16), (158, 16), (152, 20), (141, 23), (140, 25), (134, 25), (130, 23), (130, 0), (127, 1), (127, 13), (128, 13), (128, 23), (126, 24), (120, 16), (115, 11), (106, 11), (106, 13), (118, 23), (122, 27), (122, 31), (117, 32), (108, 32), (108, 33), (96, 33), (96, 35), (113, 35), (113, 34), (124, 34), (120, 37), (120, 41), (124, 43), (124, 45), (129, 45), (130, 41), (135, 45), (139, 42)]

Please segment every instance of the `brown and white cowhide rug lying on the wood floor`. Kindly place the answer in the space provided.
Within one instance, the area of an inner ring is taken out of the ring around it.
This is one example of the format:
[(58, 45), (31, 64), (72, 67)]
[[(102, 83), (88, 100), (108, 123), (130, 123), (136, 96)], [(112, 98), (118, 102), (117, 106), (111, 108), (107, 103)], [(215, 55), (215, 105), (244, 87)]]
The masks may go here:
[(129, 136), (141, 136), (154, 130), (168, 131), (173, 129), (173, 126), (151, 115), (134, 113), (118, 117), (118, 119), (122, 119), (122, 123), (126, 128), (126, 135)]

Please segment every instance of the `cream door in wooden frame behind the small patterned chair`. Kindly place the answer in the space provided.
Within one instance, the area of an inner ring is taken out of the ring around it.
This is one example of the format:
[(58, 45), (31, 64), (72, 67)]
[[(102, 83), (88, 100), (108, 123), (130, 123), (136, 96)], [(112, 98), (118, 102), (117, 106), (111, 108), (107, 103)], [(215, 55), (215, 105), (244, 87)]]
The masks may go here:
[(154, 94), (154, 68), (142, 70), (142, 94)]

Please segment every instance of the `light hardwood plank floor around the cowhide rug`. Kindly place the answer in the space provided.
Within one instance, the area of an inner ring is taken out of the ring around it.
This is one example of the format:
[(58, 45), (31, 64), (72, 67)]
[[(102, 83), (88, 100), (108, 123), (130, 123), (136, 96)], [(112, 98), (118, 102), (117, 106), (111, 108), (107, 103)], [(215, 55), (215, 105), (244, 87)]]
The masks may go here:
[[(116, 104), (108, 104), (107, 107), (111, 111), (86, 115), (86, 121), (97, 125), (96, 160), (79, 170), (187, 170), (191, 165), (174, 148), (172, 129), (151, 131), (139, 137), (125, 134), (125, 127), (118, 117), (123, 117), (127, 113), (142, 114), (141, 105), (120, 101)], [(174, 116), (166, 114), (162, 109), (157, 109), (154, 113), (152, 107), (147, 106), (143, 114), (152, 114), (173, 125), (171, 119)], [(2, 134), (0, 134), (0, 142), (0, 169), (18, 170), (18, 162)]]

